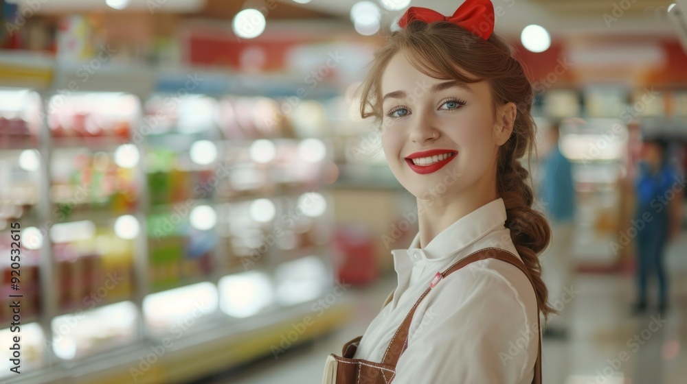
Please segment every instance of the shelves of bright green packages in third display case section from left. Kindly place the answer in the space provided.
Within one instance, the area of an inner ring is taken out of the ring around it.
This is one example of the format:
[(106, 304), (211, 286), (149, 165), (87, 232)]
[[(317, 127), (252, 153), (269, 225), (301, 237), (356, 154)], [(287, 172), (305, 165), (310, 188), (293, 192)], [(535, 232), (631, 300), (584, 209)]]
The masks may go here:
[(151, 291), (212, 280), (216, 235), (212, 204), (217, 158), (216, 99), (153, 95), (144, 121), (148, 179), (148, 277)]

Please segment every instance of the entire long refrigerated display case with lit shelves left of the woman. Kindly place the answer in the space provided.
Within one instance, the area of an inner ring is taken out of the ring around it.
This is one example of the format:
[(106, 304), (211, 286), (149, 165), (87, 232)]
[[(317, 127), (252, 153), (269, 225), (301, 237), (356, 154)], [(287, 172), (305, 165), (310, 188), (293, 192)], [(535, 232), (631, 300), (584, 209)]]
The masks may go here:
[[(22, 363), (33, 370), (8, 382), (124, 383), (134, 369), (179, 383), (271, 353), (333, 287), (331, 143), (307, 121), (321, 104), (289, 116), (280, 97), (142, 98), (98, 84), (30, 96), (38, 104), (23, 105), (47, 113), (26, 137), (0, 135), (0, 199), (15, 205), (2, 219), (27, 226)], [(300, 341), (348, 313), (337, 301)], [(167, 339), (174, 348), (141, 370)]]

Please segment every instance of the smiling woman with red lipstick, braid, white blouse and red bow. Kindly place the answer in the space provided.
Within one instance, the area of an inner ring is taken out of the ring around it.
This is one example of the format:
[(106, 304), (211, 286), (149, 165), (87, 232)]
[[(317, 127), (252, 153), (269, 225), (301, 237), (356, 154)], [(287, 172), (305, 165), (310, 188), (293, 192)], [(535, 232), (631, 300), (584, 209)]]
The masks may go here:
[(537, 254), (550, 229), (518, 161), (532, 149), (533, 91), (493, 21), (486, 0), (449, 17), (412, 7), (375, 53), (361, 115), (381, 123), (420, 231), (392, 251), (392, 299), (330, 355), (325, 383), (541, 381), (539, 313), (552, 309)]

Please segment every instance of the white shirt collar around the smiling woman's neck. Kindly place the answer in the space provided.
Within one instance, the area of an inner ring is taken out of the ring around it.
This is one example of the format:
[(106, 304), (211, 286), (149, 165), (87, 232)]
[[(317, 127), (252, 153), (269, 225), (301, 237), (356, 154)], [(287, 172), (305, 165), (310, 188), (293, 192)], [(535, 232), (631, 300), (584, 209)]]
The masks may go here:
[(425, 248), (420, 248), (420, 233), (418, 232), (407, 250), (392, 250), (396, 271), (398, 272), (401, 265), (407, 265), (403, 261), (408, 259), (414, 265), (418, 262), (441, 261), (455, 256), (460, 250), (495, 228), (503, 226), (505, 222), (506, 205), (503, 198), (499, 197), (456, 220), (429, 241)]

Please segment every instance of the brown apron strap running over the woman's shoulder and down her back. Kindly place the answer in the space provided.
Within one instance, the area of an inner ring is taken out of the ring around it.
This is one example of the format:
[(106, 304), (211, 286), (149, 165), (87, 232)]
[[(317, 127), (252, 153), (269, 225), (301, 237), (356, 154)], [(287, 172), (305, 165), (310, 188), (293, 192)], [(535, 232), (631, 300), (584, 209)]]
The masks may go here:
[[(458, 269), (461, 269), (462, 267), (465, 267), (470, 263), (474, 263), (475, 261), (480, 261), (484, 259), (498, 259), (501, 261), (505, 261), (510, 265), (515, 265), (515, 267), (520, 269), (523, 272), (523, 274), (527, 276), (528, 280), (530, 280), (530, 284), (532, 284), (532, 278), (530, 277), (530, 274), (525, 264), (520, 259), (518, 259), (517, 256), (515, 256), (514, 254), (506, 250), (501, 250), (499, 248), (484, 248), (482, 250), (478, 250), (472, 254), (469, 254), (468, 256), (465, 256), (463, 259), (444, 270), (444, 272), (442, 272), (441, 274), (442, 278), (446, 278), (446, 276), (449, 276), (449, 274), (458, 271)], [(534, 285), (532, 285), (532, 287), (534, 287)], [(384, 357), (382, 358), (383, 364), (396, 367), (398, 359), (401, 357), (401, 354), (407, 347), (410, 322), (412, 322), (413, 320), (415, 310), (417, 309), (420, 302), (423, 301), (425, 296), (427, 296), (427, 293), (429, 293), (429, 291), (431, 291), (431, 287), (427, 288), (427, 290), (422, 294), (422, 296), (420, 296), (420, 298), (415, 303), (413, 308), (410, 310), (408, 315), (406, 315), (405, 319), (401, 323), (401, 326), (398, 327), (398, 331), (396, 331), (396, 334), (394, 335), (394, 337), (392, 337), (386, 352), (384, 352)], [(392, 292), (392, 294), (387, 299), (387, 304), (392, 300), (394, 293), (395, 291)], [(534, 380), (532, 381), (532, 383), (539, 384), (541, 383), (541, 324), (539, 321), (539, 305), (537, 305), (537, 331), (539, 332), (539, 349), (537, 350), (537, 362), (534, 364)]]

